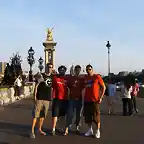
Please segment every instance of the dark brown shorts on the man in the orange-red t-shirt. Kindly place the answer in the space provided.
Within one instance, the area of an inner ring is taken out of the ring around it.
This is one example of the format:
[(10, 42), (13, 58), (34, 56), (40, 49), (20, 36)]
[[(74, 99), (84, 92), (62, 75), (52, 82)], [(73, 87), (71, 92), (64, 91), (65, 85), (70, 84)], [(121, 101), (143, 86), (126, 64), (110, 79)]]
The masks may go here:
[(100, 122), (100, 105), (97, 102), (84, 103), (85, 123)]

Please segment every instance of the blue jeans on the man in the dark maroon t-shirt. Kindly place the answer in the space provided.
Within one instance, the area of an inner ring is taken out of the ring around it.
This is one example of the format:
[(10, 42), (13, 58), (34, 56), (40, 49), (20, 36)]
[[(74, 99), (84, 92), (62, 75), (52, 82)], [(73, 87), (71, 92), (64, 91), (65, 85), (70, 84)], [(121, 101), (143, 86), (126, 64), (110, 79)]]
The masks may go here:
[(69, 127), (72, 124), (75, 110), (76, 110), (76, 126), (79, 126), (81, 120), (82, 100), (69, 100), (69, 108), (66, 117), (66, 127)]

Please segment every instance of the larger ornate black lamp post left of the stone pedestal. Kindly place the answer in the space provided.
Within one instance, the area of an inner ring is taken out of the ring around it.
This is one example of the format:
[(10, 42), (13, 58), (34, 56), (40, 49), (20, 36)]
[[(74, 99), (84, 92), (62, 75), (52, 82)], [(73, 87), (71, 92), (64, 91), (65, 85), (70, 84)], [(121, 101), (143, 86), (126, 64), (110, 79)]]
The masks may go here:
[(28, 50), (28, 57), (27, 57), (28, 64), (30, 65), (30, 71), (29, 71), (30, 82), (33, 81), (32, 66), (35, 63), (34, 54), (35, 54), (35, 51), (33, 50), (32, 47), (30, 47), (30, 49)]

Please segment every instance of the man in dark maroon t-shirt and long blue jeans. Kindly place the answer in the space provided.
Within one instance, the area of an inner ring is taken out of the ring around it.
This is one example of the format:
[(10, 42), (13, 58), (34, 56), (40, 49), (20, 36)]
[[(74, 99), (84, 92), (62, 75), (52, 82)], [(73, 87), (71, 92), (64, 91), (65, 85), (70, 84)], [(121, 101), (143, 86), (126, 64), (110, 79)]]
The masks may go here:
[(74, 68), (74, 76), (70, 76), (68, 79), (68, 86), (70, 89), (69, 96), (69, 109), (66, 117), (66, 130), (65, 135), (68, 134), (68, 128), (72, 125), (74, 117), (74, 111), (76, 110), (76, 133), (79, 133), (81, 110), (82, 110), (82, 78), (79, 76), (81, 72), (81, 66), (76, 65)]

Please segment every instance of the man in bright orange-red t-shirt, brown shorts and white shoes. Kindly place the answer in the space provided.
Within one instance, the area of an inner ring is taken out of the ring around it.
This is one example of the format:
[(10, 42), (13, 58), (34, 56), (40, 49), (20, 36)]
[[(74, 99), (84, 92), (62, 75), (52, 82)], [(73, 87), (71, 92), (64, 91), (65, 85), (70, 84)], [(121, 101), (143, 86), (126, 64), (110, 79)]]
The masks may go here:
[(84, 116), (89, 130), (85, 136), (93, 135), (92, 122), (97, 126), (94, 137), (100, 138), (100, 106), (105, 93), (105, 84), (100, 75), (93, 72), (93, 67), (86, 66), (87, 75), (84, 77)]

